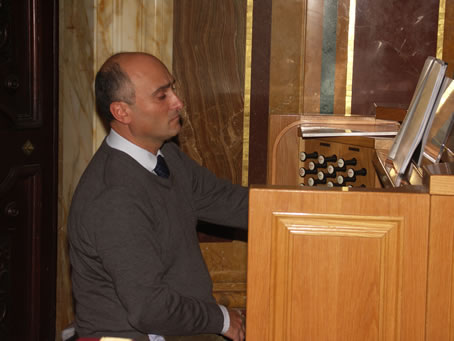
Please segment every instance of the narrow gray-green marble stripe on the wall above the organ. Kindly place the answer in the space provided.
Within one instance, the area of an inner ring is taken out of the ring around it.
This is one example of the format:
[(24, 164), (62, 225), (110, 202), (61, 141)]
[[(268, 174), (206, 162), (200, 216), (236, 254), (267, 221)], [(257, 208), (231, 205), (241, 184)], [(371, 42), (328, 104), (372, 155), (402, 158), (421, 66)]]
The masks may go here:
[(320, 82), (321, 113), (333, 113), (334, 110), (337, 1), (324, 0), (323, 2), (322, 74)]

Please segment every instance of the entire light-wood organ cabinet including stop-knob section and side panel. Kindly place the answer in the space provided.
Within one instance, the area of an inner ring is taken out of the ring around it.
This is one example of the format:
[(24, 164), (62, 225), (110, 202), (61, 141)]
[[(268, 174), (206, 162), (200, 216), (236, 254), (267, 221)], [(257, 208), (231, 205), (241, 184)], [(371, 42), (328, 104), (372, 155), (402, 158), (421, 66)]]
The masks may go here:
[[(392, 138), (302, 138), (311, 125), (398, 129), (375, 118), (271, 117), (269, 185), (250, 191), (246, 339), (454, 340), (453, 166), (384, 188), (376, 155)], [(352, 187), (329, 188), (300, 176), (314, 152), (328, 157), (317, 171), (338, 167), (328, 179), (348, 176), (340, 158), (365, 171)]]

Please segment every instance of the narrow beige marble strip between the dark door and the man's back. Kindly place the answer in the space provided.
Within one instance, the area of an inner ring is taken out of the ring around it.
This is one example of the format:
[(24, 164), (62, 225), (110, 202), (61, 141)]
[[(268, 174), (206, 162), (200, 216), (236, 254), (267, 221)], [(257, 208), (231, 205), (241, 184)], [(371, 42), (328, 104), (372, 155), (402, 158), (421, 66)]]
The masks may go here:
[(93, 2), (60, 2), (59, 56), (59, 221), (57, 261), (57, 340), (73, 320), (66, 218), (74, 188), (92, 156)]

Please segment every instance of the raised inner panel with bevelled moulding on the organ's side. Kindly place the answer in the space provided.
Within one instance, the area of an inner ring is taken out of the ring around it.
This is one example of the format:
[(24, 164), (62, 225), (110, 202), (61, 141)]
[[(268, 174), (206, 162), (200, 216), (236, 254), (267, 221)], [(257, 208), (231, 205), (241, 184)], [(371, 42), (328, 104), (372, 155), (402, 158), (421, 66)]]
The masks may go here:
[(273, 340), (394, 339), (400, 310), (402, 220), (274, 216)]

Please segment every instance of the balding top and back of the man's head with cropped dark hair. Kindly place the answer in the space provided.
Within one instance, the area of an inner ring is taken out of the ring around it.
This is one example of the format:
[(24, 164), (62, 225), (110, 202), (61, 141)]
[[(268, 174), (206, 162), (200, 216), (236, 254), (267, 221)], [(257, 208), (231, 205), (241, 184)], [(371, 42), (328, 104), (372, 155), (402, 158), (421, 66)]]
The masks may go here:
[(99, 115), (108, 123), (114, 120), (110, 112), (113, 102), (135, 103), (134, 80), (140, 77), (141, 61), (148, 60), (157, 67), (165, 65), (155, 56), (142, 52), (121, 52), (107, 59), (96, 74), (95, 98)]

